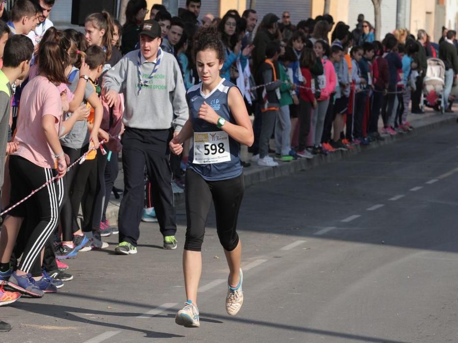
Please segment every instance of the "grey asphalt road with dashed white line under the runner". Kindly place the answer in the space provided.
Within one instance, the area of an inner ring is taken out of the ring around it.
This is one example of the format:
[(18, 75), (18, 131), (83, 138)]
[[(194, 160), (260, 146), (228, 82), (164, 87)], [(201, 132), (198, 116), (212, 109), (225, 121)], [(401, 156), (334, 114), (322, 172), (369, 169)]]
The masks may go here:
[(186, 300), (179, 248), (142, 224), (138, 254), (70, 260), (57, 294), (2, 307), (0, 342), (458, 342), (458, 125), (441, 127), (245, 191), (244, 304), (224, 310), (228, 269), (213, 214), (201, 327), (175, 324)]

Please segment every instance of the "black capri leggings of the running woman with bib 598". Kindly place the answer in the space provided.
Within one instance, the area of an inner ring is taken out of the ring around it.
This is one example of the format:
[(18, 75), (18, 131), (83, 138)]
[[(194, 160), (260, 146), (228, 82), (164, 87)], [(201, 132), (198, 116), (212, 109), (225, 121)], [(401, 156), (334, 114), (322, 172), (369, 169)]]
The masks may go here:
[(219, 242), (225, 250), (234, 250), (239, 244), (236, 228), (243, 198), (243, 174), (228, 180), (207, 181), (198, 173), (188, 169), (185, 182), (188, 225), (185, 250), (202, 250), (205, 223), (212, 199), (215, 204), (216, 231)]

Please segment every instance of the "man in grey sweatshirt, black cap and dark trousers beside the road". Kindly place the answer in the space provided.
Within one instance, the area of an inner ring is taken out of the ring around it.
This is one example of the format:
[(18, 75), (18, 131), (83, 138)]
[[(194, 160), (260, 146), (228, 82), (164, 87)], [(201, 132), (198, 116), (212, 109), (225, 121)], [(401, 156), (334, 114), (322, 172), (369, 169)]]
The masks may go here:
[(186, 90), (176, 58), (162, 51), (161, 27), (144, 21), (140, 50), (126, 54), (104, 76), (103, 93), (108, 105), (123, 93), (122, 163), (124, 196), (118, 216), (118, 254), (135, 254), (144, 201), (144, 170), (152, 184), (152, 196), (164, 248), (176, 248), (172, 173), (168, 147), (189, 117)]

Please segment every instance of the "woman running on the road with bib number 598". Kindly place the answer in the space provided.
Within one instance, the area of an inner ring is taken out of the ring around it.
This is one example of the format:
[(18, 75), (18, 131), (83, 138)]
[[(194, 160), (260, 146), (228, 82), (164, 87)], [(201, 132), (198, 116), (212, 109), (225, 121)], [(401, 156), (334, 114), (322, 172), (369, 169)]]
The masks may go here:
[(219, 76), (224, 64), (224, 47), (213, 28), (204, 28), (195, 42), (197, 71), (201, 83), (187, 93), (189, 120), (170, 142), (175, 154), (194, 138), (186, 172), (186, 230), (183, 272), (187, 301), (175, 322), (199, 327), (197, 289), (202, 271), (201, 249), (205, 223), (212, 200), (216, 231), (229, 266), (226, 311), (236, 315), (243, 303), (240, 269), (242, 245), (236, 232), (243, 197), (240, 144), (253, 144), (253, 130), (239, 89)]

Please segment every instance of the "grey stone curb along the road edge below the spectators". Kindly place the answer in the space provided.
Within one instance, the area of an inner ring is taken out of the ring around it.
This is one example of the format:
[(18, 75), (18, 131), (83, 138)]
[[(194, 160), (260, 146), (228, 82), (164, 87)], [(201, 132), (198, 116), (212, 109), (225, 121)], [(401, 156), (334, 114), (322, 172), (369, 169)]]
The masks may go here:
[[(437, 114), (436, 116), (444, 116)], [(435, 118), (435, 116), (433, 117)], [(429, 132), (435, 128), (457, 123), (458, 117), (456, 115), (452, 115), (448, 118), (443, 118), (433, 123), (428, 123), (422, 126), (416, 127), (414, 130), (405, 132), (405, 133), (398, 133), (395, 136), (384, 136), (385, 141), (377, 141), (371, 143), (369, 146), (356, 146), (354, 149), (349, 149), (347, 151), (337, 150), (333, 153), (330, 153), (327, 156), (317, 155), (313, 159), (306, 159), (301, 158), (295, 161), (291, 161), (288, 163), (280, 163), (277, 167), (263, 167), (257, 170), (254, 169), (246, 169), (243, 172), (243, 179), (245, 182), (245, 187), (255, 185), (260, 182), (264, 182), (267, 180), (271, 180), (281, 176), (287, 176), (294, 174), (296, 172), (309, 170), (323, 164), (331, 163), (334, 161), (339, 161), (343, 159), (350, 158), (356, 154), (364, 153), (365, 151), (369, 151), (372, 149), (376, 149), (378, 147), (382, 147), (385, 145), (393, 144), (399, 140), (404, 140), (407, 138), (415, 137), (417, 135), (424, 134)], [(185, 194), (184, 193), (175, 193), (174, 195), (174, 203), (175, 206), (180, 206), (185, 203)], [(118, 221), (118, 210), (119, 205), (113, 202), (108, 204), (107, 208), (107, 219), (112, 223), (117, 223)]]

